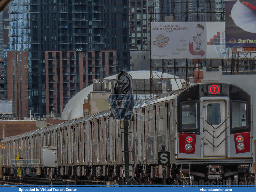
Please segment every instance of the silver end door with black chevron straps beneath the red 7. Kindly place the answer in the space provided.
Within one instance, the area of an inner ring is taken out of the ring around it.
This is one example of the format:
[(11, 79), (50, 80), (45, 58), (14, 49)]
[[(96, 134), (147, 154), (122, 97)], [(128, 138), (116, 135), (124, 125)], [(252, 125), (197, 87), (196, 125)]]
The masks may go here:
[[(201, 100), (203, 157), (227, 157), (227, 100)], [(201, 151), (202, 152), (202, 151)]]

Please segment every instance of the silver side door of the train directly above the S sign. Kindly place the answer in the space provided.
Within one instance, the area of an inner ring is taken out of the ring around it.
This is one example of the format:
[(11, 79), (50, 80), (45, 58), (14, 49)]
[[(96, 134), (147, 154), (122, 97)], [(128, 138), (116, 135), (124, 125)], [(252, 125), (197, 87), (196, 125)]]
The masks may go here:
[(165, 103), (157, 104), (157, 152), (161, 151), (161, 146), (165, 145), (165, 150), (168, 151), (167, 138), (167, 110)]

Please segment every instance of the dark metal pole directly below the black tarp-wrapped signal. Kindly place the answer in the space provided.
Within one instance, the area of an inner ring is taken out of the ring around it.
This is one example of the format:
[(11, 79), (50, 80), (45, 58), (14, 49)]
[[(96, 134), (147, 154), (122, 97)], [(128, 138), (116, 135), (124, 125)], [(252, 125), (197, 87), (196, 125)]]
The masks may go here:
[(124, 177), (125, 184), (129, 180), (129, 143), (128, 143), (128, 120), (124, 120)]

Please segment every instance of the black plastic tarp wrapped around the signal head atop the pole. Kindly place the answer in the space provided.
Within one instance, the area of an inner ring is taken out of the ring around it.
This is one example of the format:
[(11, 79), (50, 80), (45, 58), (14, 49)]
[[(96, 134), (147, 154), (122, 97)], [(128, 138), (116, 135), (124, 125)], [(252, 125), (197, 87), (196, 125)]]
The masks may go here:
[(132, 76), (126, 71), (121, 71), (116, 77), (113, 92), (108, 98), (111, 117), (129, 120), (134, 107), (134, 95), (132, 90)]

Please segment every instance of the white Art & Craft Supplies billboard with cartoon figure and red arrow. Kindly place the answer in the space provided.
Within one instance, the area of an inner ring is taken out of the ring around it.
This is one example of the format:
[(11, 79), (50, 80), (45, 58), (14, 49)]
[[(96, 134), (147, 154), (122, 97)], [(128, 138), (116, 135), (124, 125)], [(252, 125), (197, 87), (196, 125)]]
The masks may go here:
[(152, 22), (152, 59), (227, 58), (224, 22)]

